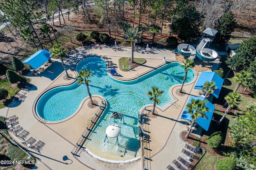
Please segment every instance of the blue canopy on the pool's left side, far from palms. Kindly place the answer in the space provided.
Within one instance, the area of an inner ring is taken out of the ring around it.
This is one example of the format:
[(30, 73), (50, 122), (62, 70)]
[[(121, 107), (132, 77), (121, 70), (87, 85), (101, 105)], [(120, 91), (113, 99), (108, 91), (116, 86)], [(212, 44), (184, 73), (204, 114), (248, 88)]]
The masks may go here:
[(50, 57), (51, 53), (47, 51), (46, 49), (41, 49), (28, 57), (25, 61), (22, 63), (28, 63), (32, 68), (38, 69), (41, 65), (43, 65), (46, 61), (51, 59)]

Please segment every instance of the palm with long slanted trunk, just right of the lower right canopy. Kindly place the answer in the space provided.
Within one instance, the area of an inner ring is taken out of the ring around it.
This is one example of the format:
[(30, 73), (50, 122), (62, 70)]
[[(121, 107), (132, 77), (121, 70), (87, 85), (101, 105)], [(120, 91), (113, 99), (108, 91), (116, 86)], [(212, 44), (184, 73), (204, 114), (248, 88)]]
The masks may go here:
[(223, 121), (223, 119), (226, 117), (226, 114), (229, 113), (229, 111), (238, 105), (238, 103), (242, 100), (241, 95), (238, 92), (230, 92), (224, 99), (228, 102), (228, 108), (224, 112), (224, 115), (222, 118), (217, 122), (217, 125), (220, 125), (220, 123)]

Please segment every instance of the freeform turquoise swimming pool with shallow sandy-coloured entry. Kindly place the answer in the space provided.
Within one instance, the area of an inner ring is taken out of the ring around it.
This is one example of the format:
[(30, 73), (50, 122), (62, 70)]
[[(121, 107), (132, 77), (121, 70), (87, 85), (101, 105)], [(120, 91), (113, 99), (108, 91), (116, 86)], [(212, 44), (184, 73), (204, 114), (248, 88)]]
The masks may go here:
[[(96, 156), (113, 160), (124, 160), (124, 156), (128, 159), (140, 156), (138, 154), (138, 113), (144, 105), (153, 103), (146, 92), (151, 91), (152, 86), (159, 87), (164, 91), (162, 97), (159, 97), (161, 102), (159, 106), (164, 108), (169, 105), (172, 101), (168, 93), (170, 87), (182, 83), (184, 78), (184, 68), (179, 66), (180, 63), (169, 63), (140, 79), (122, 82), (112, 79), (107, 74), (106, 63), (101, 58), (88, 57), (80, 61), (76, 66), (77, 71), (84, 68), (93, 71), (89, 78), (91, 80), (90, 93), (101, 95), (107, 101), (106, 110), (86, 142), (88, 150)], [(193, 78), (194, 73), (190, 69), (185, 83), (192, 81)], [(76, 112), (81, 101), (87, 96), (84, 83), (57, 87), (39, 99), (36, 111), (40, 117), (48, 121), (60, 121)], [(122, 135), (118, 136), (119, 145), (115, 145), (115, 138), (110, 138), (109, 142), (103, 145), (108, 117), (115, 111), (124, 114), (125, 122), (121, 123)]]

